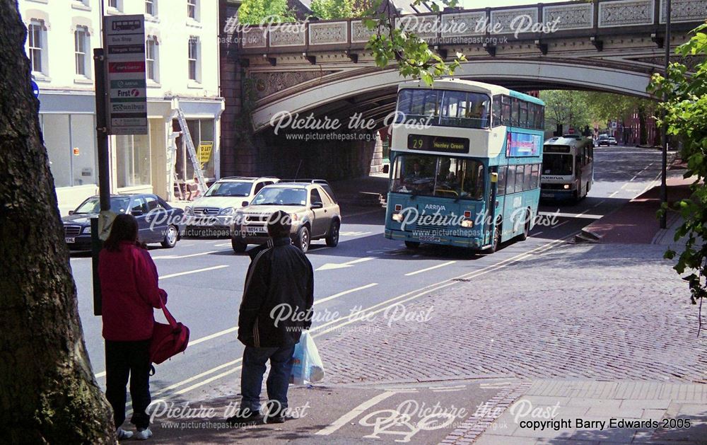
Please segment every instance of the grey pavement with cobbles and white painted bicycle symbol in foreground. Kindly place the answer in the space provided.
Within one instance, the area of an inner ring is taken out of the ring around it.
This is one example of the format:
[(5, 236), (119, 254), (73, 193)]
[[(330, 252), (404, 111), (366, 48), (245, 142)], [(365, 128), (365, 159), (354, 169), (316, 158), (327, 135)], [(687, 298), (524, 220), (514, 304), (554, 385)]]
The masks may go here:
[[(291, 389), (303, 417), (246, 429), (158, 417), (156, 441), (706, 444), (707, 341), (663, 250), (563, 242), (402, 303), (426, 317), (315, 330), (327, 376)], [(221, 412), (238, 384), (189, 403)]]

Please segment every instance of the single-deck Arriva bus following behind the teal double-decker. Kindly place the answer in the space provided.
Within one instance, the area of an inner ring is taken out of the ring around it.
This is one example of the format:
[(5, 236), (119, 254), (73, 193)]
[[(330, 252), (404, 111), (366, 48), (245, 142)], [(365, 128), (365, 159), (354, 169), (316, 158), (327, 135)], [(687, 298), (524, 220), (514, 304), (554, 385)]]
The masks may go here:
[(542, 155), (540, 197), (543, 200), (583, 199), (594, 184), (594, 142), (566, 134), (547, 139)]

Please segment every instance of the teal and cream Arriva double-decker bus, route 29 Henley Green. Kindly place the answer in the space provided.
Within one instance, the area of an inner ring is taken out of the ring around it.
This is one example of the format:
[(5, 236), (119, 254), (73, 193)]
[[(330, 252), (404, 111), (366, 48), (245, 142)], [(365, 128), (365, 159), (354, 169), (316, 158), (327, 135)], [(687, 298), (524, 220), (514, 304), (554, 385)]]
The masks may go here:
[(385, 238), (494, 252), (537, 216), (544, 103), (489, 83), (401, 83)]

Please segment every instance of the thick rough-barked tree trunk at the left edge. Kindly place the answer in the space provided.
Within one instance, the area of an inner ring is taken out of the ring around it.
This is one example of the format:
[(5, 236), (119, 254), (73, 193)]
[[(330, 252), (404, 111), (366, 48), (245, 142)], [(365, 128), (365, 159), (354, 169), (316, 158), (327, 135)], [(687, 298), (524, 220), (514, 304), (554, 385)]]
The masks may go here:
[(83, 343), (25, 35), (16, 0), (0, 0), (1, 441), (112, 444), (110, 407)]

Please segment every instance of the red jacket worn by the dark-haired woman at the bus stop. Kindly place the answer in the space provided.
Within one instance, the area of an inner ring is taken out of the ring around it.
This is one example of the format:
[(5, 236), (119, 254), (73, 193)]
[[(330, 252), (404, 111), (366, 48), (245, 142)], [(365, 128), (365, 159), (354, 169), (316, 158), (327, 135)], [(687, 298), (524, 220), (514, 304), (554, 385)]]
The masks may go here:
[(98, 259), (103, 297), (103, 338), (139, 341), (152, 337), (153, 308), (160, 308), (157, 267), (147, 250), (120, 243), (118, 252), (103, 249)]

